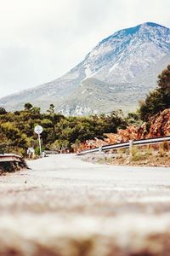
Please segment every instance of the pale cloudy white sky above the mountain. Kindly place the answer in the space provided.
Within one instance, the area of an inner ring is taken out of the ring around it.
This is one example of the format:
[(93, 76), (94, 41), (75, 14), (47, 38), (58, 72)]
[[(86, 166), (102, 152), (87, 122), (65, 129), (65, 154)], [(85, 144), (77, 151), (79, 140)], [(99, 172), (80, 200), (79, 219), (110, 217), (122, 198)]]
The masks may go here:
[(59, 78), (122, 28), (170, 27), (169, 10), (169, 0), (0, 0), (0, 97)]

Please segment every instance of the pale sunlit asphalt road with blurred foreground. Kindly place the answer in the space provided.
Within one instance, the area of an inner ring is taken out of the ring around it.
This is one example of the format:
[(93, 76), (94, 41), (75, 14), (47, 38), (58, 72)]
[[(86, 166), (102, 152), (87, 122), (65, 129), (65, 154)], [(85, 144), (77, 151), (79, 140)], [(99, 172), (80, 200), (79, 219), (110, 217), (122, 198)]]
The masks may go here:
[(0, 255), (169, 255), (170, 168), (74, 154), (0, 177)]

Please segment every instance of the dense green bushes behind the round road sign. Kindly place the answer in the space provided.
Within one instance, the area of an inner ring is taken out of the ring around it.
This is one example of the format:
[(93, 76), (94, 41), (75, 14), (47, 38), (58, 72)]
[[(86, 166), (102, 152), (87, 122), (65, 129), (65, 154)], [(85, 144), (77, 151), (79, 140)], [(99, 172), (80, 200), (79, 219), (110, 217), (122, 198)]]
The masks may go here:
[(36, 148), (36, 125), (42, 125), (42, 149), (73, 150), (80, 143), (94, 137), (103, 137), (106, 132), (116, 132), (118, 128), (125, 128), (126, 120), (121, 111), (110, 114), (89, 117), (65, 117), (54, 113), (51, 104), (47, 113), (41, 109), (25, 104), (21, 111), (7, 112), (0, 108), (0, 153), (17, 153), (26, 155), (26, 149)]

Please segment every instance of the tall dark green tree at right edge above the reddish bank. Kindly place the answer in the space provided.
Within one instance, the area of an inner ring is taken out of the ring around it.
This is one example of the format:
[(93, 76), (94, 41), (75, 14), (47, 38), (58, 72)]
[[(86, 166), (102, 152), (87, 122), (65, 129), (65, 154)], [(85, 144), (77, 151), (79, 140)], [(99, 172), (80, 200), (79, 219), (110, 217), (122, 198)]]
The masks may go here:
[(148, 121), (150, 116), (170, 108), (170, 65), (158, 76), (156, 90), (152, 90), (140, 104), (139, 116)]

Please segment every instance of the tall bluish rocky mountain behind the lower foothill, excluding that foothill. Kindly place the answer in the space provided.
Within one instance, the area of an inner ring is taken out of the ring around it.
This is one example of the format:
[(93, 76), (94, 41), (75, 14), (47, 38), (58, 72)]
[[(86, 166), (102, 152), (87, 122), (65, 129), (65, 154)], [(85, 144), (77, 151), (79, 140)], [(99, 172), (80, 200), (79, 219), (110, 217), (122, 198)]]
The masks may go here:
[[(141, 84), (146, 84), (146, 89), (149, 91), (156, 86), (156, 76), (161, 72), (156, 64), (162, 61), (161, 66), (166, 68), (170, 62), (169, 56), (170, 29), (153, 22), (145, 22), (122, 29), (101, 40), (82, 62), (59, 79), (3, 97), (0, 99), (0, 105), (10, 109), (16, 109), (16, 105), (20, 106), (17, 108), (21, 108), (21, 104), (27, 102), (27, 99), (34, 104), (39, 104), (45, 110), (48, 108), (47, 103), (49, 105), (51, 103), (49, 101), (53, 100), (55, 109), (65, 112), (60, 107), (67, 102), (69, 108), (71, 94), (77, 94), (77, 89), (82, 82), (89, 78), (108, 84), (131, 83), (132, 88), (135, 84), (139, 87)], [(140, 99), (144, 98), (147, 90), (144, 89), (144, 92), (137, 96), (134, 107)], [(86, 99), (83, 98), (82, 105), (85, 106), (85, 104)], [(122, 105), (120, 107), (123, 108)], [(125, 108), (123, 110), (126, 110)], [(92, 106), (91, 113), (94, 113), (94, 110)], [(105, 105), (103, 111), (105, 111)], [(71, 114), (74, 114), (74, 110)]]

